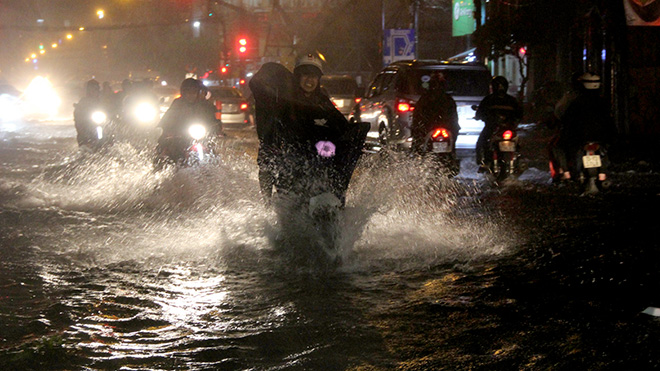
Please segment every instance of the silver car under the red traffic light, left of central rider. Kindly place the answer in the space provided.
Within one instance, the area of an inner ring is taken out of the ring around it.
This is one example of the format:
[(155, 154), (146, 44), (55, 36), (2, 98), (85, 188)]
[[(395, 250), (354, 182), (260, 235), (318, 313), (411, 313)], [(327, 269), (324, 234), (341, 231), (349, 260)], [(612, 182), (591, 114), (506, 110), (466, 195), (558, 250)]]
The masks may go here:
[(210, 87), (216, 118), (224, 129), (242, 129), (251, 125), (250, 106), (240, 90), (228, 86)]

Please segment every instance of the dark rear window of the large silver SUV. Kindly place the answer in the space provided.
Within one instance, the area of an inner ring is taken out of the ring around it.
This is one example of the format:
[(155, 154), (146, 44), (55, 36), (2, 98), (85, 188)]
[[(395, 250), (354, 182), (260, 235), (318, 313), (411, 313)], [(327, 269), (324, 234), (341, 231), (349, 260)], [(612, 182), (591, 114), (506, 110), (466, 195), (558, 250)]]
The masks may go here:
[(488, 95), (490, 74), (477, 69), (413, 69), (406, 78), (399, 80), (399, 90), (403, 94), (421, 95), (428, 89), (429, 77), (433, 72), (442, 71), (447, 79), (447, 92), (454, 96), (474, 97)]

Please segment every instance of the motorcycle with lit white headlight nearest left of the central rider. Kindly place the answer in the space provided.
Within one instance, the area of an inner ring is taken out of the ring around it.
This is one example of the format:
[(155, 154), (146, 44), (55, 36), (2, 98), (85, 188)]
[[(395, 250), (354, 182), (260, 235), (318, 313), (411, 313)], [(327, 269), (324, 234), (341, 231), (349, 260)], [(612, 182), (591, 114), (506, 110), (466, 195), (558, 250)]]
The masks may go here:
[(213, 128), (193, 122), (185, 133), (161, 137), (156, 148), (156, 169), (165, 164), (188, 167), (210, 162), (215, 157), (216, 146)]

